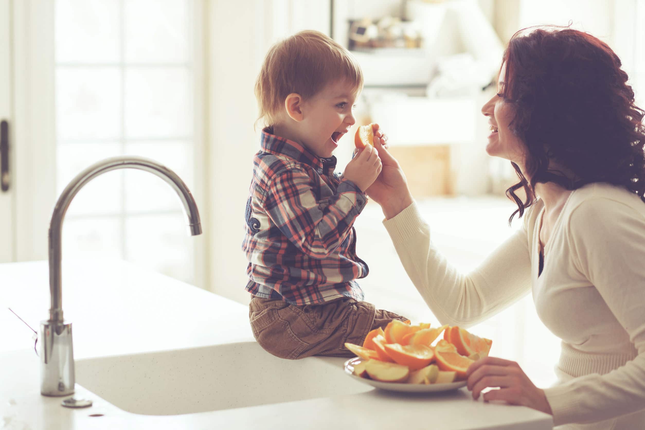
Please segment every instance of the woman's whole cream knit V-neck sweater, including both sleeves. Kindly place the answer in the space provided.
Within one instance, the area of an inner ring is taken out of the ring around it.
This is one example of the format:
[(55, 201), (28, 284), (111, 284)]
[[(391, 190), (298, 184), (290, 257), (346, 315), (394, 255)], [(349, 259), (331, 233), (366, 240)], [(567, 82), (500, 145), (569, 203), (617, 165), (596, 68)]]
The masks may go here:
[(622, 418), (613, 418), (640, 411), (631, 417), (642, 421), (631, 422), (642, 427), (629, 428), (645, 428), (645, 203), (610, 184), (573, 191), (538, 276), (543, 211), (538, 200), (522, 228), (468, 274), (435, 248), (416, 204), (383, 223), (441, 324), (472, 326), (532, 291), (542, 322), (562, 339), (559, 383), (544, 390), (554, 425), (615, 426)]

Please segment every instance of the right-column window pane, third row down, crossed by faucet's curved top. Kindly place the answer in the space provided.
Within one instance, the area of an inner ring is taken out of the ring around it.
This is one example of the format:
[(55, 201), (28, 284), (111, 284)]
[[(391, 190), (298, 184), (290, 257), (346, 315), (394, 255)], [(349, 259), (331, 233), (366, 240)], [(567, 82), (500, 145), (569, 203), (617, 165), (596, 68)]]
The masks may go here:
[[(130, 142), (126, 154), (147, 157), (174, 171), (192, 191), (193, 155), (190, 142)], [(126, 212), (181, 210), (177, 193), (163, 179), (141, 170), (125, 172)]]

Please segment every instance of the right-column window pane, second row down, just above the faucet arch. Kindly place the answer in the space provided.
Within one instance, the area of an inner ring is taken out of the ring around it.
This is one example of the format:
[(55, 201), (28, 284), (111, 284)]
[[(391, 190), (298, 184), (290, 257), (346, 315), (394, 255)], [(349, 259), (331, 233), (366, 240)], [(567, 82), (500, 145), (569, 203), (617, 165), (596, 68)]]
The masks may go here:
[(190, 72), (186, 68), (126, 70), (125, 128), (129, 139), (191, 134)]

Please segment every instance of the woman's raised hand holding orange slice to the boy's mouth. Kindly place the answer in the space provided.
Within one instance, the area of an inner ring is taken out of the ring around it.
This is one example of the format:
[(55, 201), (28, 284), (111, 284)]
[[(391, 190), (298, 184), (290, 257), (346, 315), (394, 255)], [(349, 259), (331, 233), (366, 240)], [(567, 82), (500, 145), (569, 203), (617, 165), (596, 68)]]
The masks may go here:
[(412, 204), (412, 195), (399, 162), (388, 151), (388, 137), (381, 132), (379, 124), (372, 124), (372, 130), (374, 148), (379, 151), (382, 170), (365, 193), (381, 205), (383, 214), (390, 219)]

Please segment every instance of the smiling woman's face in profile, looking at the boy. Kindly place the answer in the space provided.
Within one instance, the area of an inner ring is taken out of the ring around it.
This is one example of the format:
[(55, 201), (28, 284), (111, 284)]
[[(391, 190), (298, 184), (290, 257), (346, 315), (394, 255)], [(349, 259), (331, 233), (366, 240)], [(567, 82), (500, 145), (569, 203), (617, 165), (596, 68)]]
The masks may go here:
[(524, 143), (511, 133), (508, 125), (513, 119), (513, 104), (504, 101), (504, 75), (506, 63), (502, 64), (497, 80), (497, 94), (493, 95), (482, 107), (482, 113), (488, 117), (491, 133), (488, 136), (486, 152), (493, 157), (501, 157), (515, 162), (518, 166), (524, 165)]

